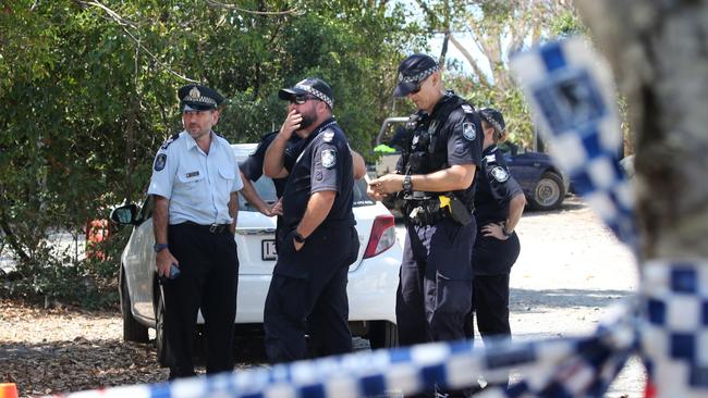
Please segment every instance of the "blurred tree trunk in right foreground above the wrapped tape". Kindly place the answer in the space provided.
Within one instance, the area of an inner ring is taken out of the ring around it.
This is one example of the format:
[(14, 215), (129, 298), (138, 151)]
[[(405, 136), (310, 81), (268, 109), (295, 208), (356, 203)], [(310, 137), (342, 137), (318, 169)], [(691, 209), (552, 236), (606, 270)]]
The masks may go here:
[(576, 7), (627, 98), (643, 260), (708, 258), (708, 3)]

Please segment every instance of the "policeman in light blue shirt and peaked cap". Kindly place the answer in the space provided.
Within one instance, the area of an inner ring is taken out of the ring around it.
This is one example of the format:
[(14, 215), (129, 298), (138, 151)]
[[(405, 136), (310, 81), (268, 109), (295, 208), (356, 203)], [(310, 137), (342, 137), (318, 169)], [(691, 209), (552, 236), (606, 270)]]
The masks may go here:
[[(188, 85), (180, 88), (184, 130), (160, 147), (148, 194), (155, 196), (158, 276), (164, 294), (170, 380), (194, 375), (192, 344), (202, 309), (207, 373), (233, 369), (239, 259), (234, 232), (243, 186), (229, 142), (211, 128), (223, 97)], [(180, 275), (169, 278), (174, 264)]]

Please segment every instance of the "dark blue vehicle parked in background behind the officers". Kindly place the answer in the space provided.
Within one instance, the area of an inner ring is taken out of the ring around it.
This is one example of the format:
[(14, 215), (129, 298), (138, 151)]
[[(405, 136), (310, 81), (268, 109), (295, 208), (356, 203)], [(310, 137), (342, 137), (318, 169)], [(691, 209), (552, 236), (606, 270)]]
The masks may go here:
[[(371, 177), (377, 177), (395, 171), (395, 164), (401, 157), (398, 150), (396, 137), (401, 136), (402, 126), (392, 138), (387, 139), (387, 133), (393, 124), (405, 124), (407, 117), (388, 117), (383, 121), (379, 135), (376, 137), (379, 159), (369, 171)], [(389, 135), (390, 136), (390, 135)], [(569, 191), (570, 182), (553, 164), (550, 156), (542, 152), (520, 151), (513, 144), (501, 144), (511, 174), (516, 178), (526, 195), (528, 206), (534, 210), (547, 211), (560, 208)], [(392, 203), (386, 203), (389, 206)], [(390, 206), (389, 206), (390, 208)]]

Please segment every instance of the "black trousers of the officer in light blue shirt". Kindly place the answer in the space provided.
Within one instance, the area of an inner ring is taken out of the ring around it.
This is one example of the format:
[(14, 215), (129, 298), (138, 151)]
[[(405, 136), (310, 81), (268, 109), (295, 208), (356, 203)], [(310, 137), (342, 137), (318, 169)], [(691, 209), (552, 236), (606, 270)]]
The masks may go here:
[(170, 378), (193, 376), (198, 310), (205, 321), (207, 373), (233, 370), (239, 258), (233, 235), (224, 229), (176, 224), (168, 228), (170, 251), (181, 274), (163, 284), (164, 334)]

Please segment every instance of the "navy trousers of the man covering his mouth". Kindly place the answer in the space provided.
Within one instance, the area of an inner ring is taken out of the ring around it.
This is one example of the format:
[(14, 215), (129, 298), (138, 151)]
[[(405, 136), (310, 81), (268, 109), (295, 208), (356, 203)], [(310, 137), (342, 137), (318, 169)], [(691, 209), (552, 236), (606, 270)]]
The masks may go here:
[(300, 251), (289, 239), (282, 241), (264, 309), (268, 360), (304, 359), (307, 333), (319, 355), (351, 352), (346, 284), (358, 250), (356, 229), (322, 228)]

